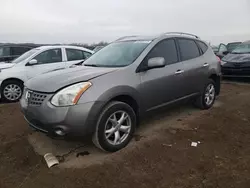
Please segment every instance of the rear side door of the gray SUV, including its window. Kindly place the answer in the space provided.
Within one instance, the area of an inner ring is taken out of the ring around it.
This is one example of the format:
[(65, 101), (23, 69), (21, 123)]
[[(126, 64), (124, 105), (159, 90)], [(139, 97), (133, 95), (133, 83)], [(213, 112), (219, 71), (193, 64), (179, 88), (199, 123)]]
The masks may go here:
[[(200, 92), (207, 81), (209, 62), (205, 61), (203, 51), (198, 46), (198, 41), (178, 38), (181, 61), (183, 63), (183, 92), (186, 96)], [(205, 43), (202, 43), (206, 45)], [(203, 46), (207, 50), (206, 46)]]

